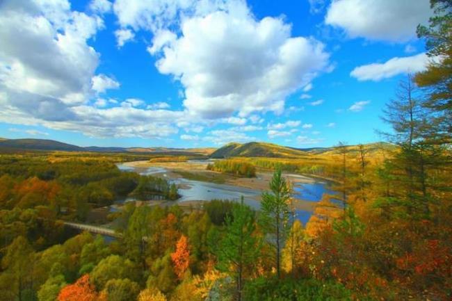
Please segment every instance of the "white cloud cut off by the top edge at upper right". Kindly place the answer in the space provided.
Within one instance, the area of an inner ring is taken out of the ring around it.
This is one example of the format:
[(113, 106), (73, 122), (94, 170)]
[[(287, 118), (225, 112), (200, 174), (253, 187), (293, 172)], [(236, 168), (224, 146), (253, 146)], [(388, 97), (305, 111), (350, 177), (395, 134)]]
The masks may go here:
[(428, 0), (334, 0), (325, 23), (344, 29), (350, 38), (405, 42), (430, 15)]

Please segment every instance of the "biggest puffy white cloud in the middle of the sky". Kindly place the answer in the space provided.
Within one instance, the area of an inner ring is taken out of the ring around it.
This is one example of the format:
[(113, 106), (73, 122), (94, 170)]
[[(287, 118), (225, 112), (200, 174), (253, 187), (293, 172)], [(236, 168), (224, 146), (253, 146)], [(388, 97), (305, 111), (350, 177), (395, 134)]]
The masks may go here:
[(182, 19), (181, 35), (163, 47), (156, 67), (181, 81), (188, 111), (218, 118), (282, 113), (284, 99), (324, 71), (328, 58), (313, 38), (292, 38), (283, 19), (257, 20), (245, 3), (232, 1), (225, 10)]

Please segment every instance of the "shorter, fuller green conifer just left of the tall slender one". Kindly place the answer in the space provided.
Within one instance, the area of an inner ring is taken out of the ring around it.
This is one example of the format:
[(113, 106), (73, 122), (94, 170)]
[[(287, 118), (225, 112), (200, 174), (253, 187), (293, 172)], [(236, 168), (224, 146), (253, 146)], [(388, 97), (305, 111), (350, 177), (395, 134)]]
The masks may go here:
[(237, 300), (242, 300), (243, 276), (252, 270), (257, 261), (260, 240), (255, 236), (255, 213), (249, 206), (234, 204), (232, 215), (228, 215), (225, 236), (218, 243), (216, 256), (218, 269), (227, 272), (236, 282)]

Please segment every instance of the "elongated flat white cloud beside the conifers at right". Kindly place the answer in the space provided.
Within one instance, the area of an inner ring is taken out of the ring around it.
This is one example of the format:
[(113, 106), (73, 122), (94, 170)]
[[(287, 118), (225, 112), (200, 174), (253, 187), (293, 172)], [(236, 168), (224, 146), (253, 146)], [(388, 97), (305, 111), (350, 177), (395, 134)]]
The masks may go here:
[(350, 76), (358, 81), (380, 81), (403, 73), (416, 73), (426, 70), (429, 58), (426, 54), (391, 58), (385, 63), (373, 63), (355, 67)]

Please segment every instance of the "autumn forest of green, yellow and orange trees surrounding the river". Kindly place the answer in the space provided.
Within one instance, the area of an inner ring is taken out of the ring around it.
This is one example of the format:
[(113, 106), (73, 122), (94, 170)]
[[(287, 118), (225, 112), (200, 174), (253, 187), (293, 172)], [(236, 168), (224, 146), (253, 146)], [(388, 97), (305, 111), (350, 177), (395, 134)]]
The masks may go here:
[[(121, 171), (115, 163), (134, 158), (113, 154), (0, 154), (0, 300), (451, 300), (452, 3), (432, 3), (418, 35), (443, 59), (388, 99), (391, 147), (210, 165), (239, 177), (272, 170), (259, 211), (243, 200), (127, 202), (111, 215), (118, 238), (74, 234), (63, 221), (126, 197), (177, 200), (177, 186)], [(332, 179), (337, 195), (307, 225), (284, 171)]]

